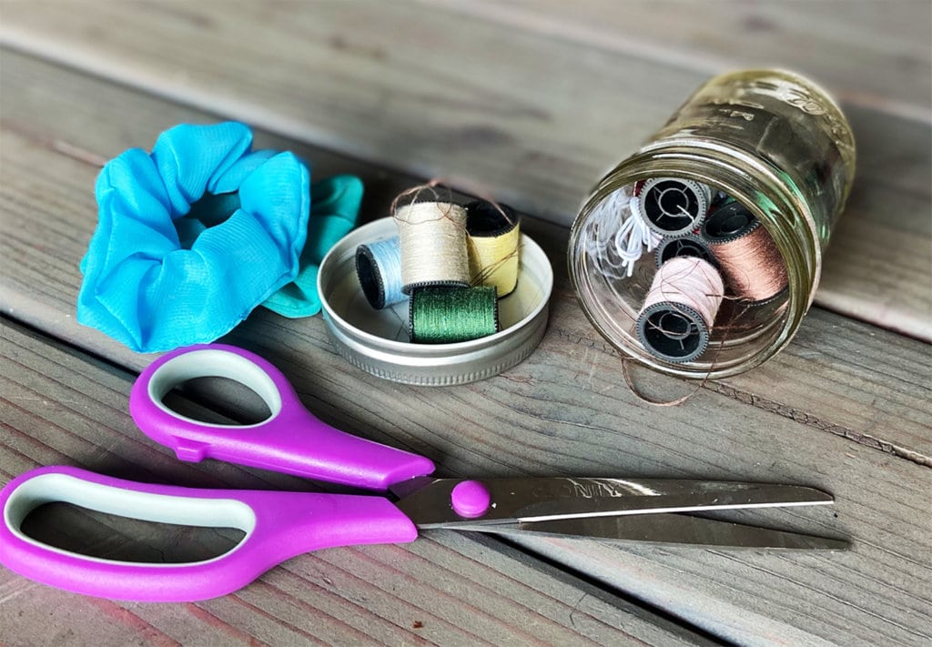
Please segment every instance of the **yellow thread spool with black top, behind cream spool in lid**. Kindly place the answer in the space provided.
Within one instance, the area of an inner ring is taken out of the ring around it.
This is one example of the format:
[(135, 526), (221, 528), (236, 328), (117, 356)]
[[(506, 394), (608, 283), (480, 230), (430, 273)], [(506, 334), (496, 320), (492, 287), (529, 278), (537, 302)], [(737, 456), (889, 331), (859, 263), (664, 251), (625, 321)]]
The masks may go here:
[(466, 205), (470, 283), (490, 285), (501, 298), (518, 282), (518, 216), (506, 204), (474, 200)]

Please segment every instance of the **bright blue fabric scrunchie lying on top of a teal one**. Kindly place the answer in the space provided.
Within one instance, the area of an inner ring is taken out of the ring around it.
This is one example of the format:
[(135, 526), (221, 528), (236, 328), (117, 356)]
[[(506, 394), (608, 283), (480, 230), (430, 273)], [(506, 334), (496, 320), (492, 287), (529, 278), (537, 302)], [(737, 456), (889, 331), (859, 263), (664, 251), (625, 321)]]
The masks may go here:
[(308, 169), (291, 153), (250, 152), (252, 142), (240, 123), (183, 124), (151, 155), (133, 148), (107, 162), (78, 322), (133, 351), (167, 351), (225, 335), (295, 279)]

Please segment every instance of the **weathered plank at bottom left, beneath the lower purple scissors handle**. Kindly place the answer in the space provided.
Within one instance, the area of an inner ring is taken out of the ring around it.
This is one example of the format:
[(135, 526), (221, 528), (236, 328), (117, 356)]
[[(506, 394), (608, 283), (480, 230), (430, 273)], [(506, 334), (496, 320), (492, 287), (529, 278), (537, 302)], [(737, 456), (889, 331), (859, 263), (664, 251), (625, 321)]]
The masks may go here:
[[(133, 427), (133, 376), (6, 322), (0, 328), (0, 473), (78, 464), (137, 480), (267, 488), (267, 474), (188, 465)], [(308, 489), (273, 475), (273, 487)], [(122, 525), (66, 516), (82, 541), (127, 544)], [(47, 523), (61, 523), (59, 517)], [(155, 533), (133, 538), (152, 543)], [(175, 530), (163, 540), (184, 544)], [(153, 544), (165, 547), (166, 544)], [(168, 544), (171, 546), (171, 544)], [(7, 644), (709, 644), (488, 538), (432, 532), (415, 544), (320, 551), (223, 599), (147, 605), (88, 599), (0, 570)]]

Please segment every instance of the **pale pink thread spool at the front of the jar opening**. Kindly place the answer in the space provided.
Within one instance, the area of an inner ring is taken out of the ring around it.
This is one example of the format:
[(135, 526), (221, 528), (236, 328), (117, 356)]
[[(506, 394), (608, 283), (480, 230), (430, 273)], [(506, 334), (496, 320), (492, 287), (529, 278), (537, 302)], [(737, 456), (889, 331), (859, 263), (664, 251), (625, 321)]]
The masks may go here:
[(702, 258), (676, 256), (651, 282), (637, 315), (637, 338), (654, 357), (673, 364), (692, 362), (708, 347), (724, 284)]

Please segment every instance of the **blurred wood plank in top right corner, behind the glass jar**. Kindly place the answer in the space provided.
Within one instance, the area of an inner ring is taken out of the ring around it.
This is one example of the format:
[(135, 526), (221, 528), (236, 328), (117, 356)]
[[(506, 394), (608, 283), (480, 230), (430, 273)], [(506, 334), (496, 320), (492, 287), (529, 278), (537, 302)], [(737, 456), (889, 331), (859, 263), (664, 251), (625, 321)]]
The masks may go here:
[[(899, 70), (897, 75), (890, 78), (878, 75), (880, 78), (866, 79), (868, 85), (874, 86), (872, 89), (846, 91), (843, 86), (844, 70), (834, 69), (830, 62), (826, 63), (819, 57), (809, 56), (805, 49), (788, 51), (778, 47), (780, 32), (786, 36), (787, 33), (798, 30), (801, 26), (799, 21), (807, 18), (807, 11), (812, 12), (812, 7), (806, 7), (803, 3), (772, 3), (770, 6), (757, 3), (717, 3), (704, 7), (701, 16), (693, 16), (690, 13), (692, 7), (688, 7), (689, 3), (683, 0), (679, 0), (678, 3), (667, 2), (660, 7), (650, 2), (629, 2), (622, 11), (619, 11), (618, 7), (599, 7), (599, 3), (580, 2), (568, 5), (560, 0), (415, 2), (439, 5), (452, 13), (492, 24), (507, 25), (516, 30), (540, 34), (545, 38), (563, 40), (600, 51), (618, 52), (633, 58), (665, 62), (671, 67), (692, 70), (708, 76), (738, 67), (738, 61), (749, 67), (761, 59), (775, 59), (781, 62), (780, 66), (801, 69), (806, 76), (812, 76), (820, 85), (831, 89), (832, 95), (844, 103), (932, 125), (932, 112), (928, 109), (927, 96), (923, 96), (923, 90), (927, 91), (929, 85), (927, 78), (920, 81), (918, 88), (910, 88), (911, 99), (898, 99), (893, 96), (895, 92), (903, 93), (897, 83), (907, 76)], [(834, 3), (822, 0), (821, 7), (813, 12), (814, 15), (808, 16), (809, 20), (804, 25), (805, 32), (811, 34), (814, 31), (826, 30), (824, 41), (819, 43), (830, 50), (831, 56), (825, 58), (832, 62), (842, 58), (839, 43), (833, 42), (832, 34), (827, 29), (829, 24), (838, 25), (838, 21), (829, 20), (825, 15), (825, 11), (834, 5), (834, 10), (847, 12), (840, 16), (841, 21), (847, 23), (846, 28), (861, 31), (865, 38), (872, 36), (887, 39), (886, 42), (893, 41), (900, 31), (897, 21), (888, 21), (882, 26), (885, 29), (875, 34), (871, 29), (874, 25), (870, 24), (870, 20), (858, 20), (858, 10), (871, 2), (876, 5), (875, 0), (848, 0), (843, 3), (837, 0)], [(793, 4), (795, 7), (790, 8)], [(918, 67), (917, 76), (927, 76), (928, 42), (923, 42), (918, 32), (922, 29), (920, 25), (924, 23), (927, 28), (930, 14), (928, 4), (902, 2), (900, 7), (907, 7), (902, 9), (904, 14), (911, 11), (910, 26), (913, 28), (912, 37), (905, 39), (905, 50), (890, 52), (880, 45), (871, 53), (884, 56), (888, 63), (896, 62), (898, 57), (899, 62)], [(711, 25), (715, 26), (718, 34), (709, 29)], [(800, 32), (795, 34), (795, 37), (802, 40), (805, 34), (802, 30)], [(715, 35), (719, 38), (713, 37)], [(925, 35), (928, 37), (929, 34)], [(884, 43), (884, 40), (881, 40), (881, 43)], [(761, 48), (762, 52), (753, 51), (755, 45)], [(853, 42), (843, 45), (855, 47)]]

